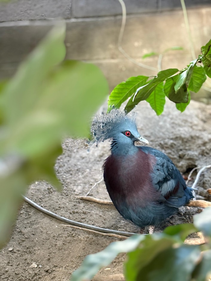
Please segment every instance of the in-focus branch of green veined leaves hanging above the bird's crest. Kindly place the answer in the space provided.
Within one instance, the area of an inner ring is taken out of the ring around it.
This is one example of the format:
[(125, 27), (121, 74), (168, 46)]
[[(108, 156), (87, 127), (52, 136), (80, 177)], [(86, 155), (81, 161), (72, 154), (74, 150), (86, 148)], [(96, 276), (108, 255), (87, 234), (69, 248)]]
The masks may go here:
[(169, 68), (161, 70), (154, 78), (136, 76), (120, 83), (109, 96), (108, 112), (112, 108), (120, 108), (129, 99), (125, 107), (126, 113), (140, 101), (146, 100), (160, 115), (166, 97), (175, 102), (176, 108), (183, 112), (190, 102), (190, 91), (197, 93), (207, 76), (211, 77), (211, 40), (201, 47), (201, 52), (198, 59), (190, 62), (183, 70)]

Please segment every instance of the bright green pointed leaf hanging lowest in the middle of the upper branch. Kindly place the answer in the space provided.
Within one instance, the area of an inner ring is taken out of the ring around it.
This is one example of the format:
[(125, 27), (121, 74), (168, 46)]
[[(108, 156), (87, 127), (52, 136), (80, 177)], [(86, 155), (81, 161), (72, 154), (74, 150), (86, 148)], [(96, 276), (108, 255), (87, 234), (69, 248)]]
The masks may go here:
[(166, 102), (165, 93), (163, 90), (163, 82), (159, 83), (155, 90), (150, 94), (146, 99), (149, 102), (153, 110), (155, 110), (157, 115), (160, 115), (163, 112), (163, 108)]

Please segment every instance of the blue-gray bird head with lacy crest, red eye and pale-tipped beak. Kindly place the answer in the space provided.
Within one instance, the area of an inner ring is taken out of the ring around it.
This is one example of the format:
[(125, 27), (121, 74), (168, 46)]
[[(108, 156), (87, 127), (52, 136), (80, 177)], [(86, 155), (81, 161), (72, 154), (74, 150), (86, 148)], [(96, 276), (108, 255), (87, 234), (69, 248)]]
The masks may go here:
[(134, 116), (129, 117), (117, 109), (111, 110), (108, 114), (95, 116), (91, 126), (91, 134), (94, 137), (94, 142), (97, 143), (112, 139), (112, 149), (115, 146), (126, 149), (131, 145), (134, 146), (135, 142), (149, 143), (138, 133)]

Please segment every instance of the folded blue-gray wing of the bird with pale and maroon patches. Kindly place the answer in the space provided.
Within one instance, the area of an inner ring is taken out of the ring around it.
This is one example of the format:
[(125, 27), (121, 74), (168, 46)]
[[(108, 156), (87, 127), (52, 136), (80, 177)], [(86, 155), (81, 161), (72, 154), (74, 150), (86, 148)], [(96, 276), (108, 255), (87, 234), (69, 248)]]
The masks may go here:
[(186, 194), (186, 183), (172, 160), (163, 152), (150, 147), (141, 147), (142, 151), (156, 159), (151, 173), (152, 184), (160, 192), (160, 200), (171, 207), (180, 207), (191, 199)]

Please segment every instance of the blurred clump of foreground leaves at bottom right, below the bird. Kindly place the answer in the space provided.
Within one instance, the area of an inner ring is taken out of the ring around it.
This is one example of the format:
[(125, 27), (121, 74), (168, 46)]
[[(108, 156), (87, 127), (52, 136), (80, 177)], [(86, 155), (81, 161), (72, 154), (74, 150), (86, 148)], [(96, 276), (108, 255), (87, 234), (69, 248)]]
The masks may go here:
[[(205, 281), (211, 274), (211, 207), (194, 216), (193, 224), (167, 227), (162, 233), (133, 235), (112, 242), (106, 249), (85, 257), (70, 281), (91, 280), (100, 268), (109, 265), (120, 253), (126, 281)], [(206, 245), (184, 244), (185, 238), (202, 231)]]

